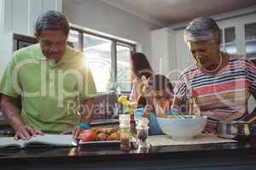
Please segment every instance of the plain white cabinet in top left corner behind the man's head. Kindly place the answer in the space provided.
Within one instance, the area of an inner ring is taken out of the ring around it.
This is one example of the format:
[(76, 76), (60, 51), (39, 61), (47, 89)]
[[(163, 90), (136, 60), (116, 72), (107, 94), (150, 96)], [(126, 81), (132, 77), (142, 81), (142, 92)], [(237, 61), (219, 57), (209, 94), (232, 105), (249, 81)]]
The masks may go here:
[(38, 15), (49, 9), (62, 11), (62, 0), (0, 0), (0, 34), (33, 36)]

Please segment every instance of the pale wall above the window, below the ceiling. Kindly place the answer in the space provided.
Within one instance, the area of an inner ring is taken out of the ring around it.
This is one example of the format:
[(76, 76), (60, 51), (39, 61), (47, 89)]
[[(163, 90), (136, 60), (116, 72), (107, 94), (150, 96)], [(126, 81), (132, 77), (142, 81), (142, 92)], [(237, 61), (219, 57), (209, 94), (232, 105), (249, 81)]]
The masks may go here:
[(139, 42), (151, 60), (150, 31), (157, 26), (98, 0), (63, 0), (62, 6), (71, 23)]

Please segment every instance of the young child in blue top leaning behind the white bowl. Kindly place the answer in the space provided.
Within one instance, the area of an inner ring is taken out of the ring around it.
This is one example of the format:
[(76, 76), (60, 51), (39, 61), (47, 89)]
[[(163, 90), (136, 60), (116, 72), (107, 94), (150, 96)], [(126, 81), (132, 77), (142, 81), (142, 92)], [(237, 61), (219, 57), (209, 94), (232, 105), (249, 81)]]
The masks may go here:
[(148, 79), (148, 85), (149, 87), (143, 91), (143, 94), (138, 100), (135, 119), (147, 117), (149, 120), (149, 134), (160, 134), (163, 132), (160, 129), (156, 117), (171, 114), (173, 98), (172, 83), (163, 75), (155, 75)]

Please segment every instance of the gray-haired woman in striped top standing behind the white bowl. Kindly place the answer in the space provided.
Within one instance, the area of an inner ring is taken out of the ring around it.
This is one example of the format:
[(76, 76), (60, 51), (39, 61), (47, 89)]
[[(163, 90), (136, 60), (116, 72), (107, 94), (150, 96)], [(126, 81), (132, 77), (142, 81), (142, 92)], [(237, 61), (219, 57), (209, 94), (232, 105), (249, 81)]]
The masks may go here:
[(220, 29), (211, 18), (196, 18), (184, 31), (195, 64), (183, 71), (174, 89), (172, 109), (181, 110), (191, 96), (208, 117), (206, 131), (215, 133), (217, 122), (248, 119), (247, 100), (256, 97), (256, 68), (242, 55), (219, 50)]

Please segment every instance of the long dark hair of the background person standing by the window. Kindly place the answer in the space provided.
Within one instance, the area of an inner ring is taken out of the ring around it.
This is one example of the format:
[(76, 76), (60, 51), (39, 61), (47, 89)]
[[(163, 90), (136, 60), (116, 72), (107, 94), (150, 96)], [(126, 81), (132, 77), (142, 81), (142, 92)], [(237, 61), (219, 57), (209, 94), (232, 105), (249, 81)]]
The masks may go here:
[(148, 62), (147, 57), (143, 53), (131, 54), (131, 65), (133, 65), (133, 74), (136, 77), (151, 77), (153, 70)]

